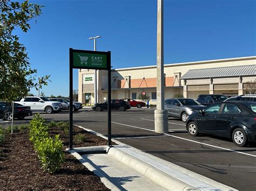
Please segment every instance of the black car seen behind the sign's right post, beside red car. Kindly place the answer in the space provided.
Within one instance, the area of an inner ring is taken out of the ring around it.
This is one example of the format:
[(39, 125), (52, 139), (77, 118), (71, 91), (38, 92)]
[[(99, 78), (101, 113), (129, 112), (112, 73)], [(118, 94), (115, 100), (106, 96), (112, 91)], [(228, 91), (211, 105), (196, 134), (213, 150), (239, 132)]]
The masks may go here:
[[(124, 100), (111, 100), (111, 110), (125, 111), (130, 108), (131, 108), (130, 104)], [(104, 103), (96, 103), (95, 105), (92, 106), (92, 110), (95, 110), (95, 111), (107, 110), (107, 101)]]

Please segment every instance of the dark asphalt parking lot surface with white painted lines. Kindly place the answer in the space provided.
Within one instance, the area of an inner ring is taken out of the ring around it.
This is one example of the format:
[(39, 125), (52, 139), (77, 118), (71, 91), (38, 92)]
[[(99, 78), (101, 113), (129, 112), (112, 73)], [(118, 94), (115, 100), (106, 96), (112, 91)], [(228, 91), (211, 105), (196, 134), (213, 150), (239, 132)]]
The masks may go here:
[[(42, 114), (47, 121), (68, 121), (69, 112)], [(15, 120), (15, 125), (28, 123)], [(73, 123), (107, 136), (107, 112), (89, 108), (73, 114)], [(11, 122), (0, 121), (8, 126)], [(192, 137), (185, 123), (169, 118), (169, 133), (154, 133), (154, 108), (112, 111), (112, 138), (240, 190), (255, 190), (256, 145), (235, 146), (231, 139)]]

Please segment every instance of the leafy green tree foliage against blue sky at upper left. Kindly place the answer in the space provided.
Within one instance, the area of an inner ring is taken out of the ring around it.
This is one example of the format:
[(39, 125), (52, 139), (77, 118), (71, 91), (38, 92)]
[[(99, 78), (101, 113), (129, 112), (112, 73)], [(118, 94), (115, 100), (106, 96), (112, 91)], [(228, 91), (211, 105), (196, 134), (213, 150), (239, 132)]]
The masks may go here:
[(29, 21), (41, 15), (41, 5), (29, 1), (0, 0), (0, 100), (12, 101), (23, 97), (33, 87), (47, 85), (49, 75), (35, 83), (36, 69), (30, 67), (28, 54), (14, 30), (30, 29)]

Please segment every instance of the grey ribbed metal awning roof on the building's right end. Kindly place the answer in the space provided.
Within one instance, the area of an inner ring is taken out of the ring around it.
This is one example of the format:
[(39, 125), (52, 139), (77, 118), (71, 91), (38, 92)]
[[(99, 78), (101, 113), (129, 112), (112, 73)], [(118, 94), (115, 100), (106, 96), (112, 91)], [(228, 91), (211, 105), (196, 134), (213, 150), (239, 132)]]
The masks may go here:
[(190, 69), (181, 79), (198, 79), (209, 77), (234, 77), (256, 75), (256, 65), (230, 66), (219, 68)]

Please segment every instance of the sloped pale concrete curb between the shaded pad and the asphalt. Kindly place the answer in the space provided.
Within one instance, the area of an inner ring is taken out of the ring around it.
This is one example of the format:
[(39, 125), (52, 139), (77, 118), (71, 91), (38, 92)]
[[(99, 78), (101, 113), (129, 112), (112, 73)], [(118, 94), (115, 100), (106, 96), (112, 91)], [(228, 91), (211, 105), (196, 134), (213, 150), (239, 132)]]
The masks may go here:
[[(95, 131), (83, 128), (82, 126), (78, 127), (107, 139), (107, 137)], [(147, 178), (168, 190), (237, 190), (212, 179), (206, 178), (203, 175), (199, 175), (189, 171), (188, 169), (172, 164), (171, 162), (154, 157), (151, 154), (140, 151), (137, 148), (123, 144), (117, 140), (112, 139), (112, 141), (118, 145), (114, 145), (112, 147), (80, 147), (74, 148), (74, 150), (71, 150), (70, 152), (77, 154), (105, 152), (106, 154), (109, 154), (113, 158), (122, 162), (124, 165), (144, 174)], [(111, 185), (111, 183), (107, 184)]]

